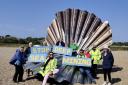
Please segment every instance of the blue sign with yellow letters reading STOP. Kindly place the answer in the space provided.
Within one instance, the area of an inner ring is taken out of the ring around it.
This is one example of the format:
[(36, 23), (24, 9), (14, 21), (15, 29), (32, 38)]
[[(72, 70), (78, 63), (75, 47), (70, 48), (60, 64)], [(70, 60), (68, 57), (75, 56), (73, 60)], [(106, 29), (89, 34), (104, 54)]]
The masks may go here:
[(49, 53), (51, 51), (50, 46), (39, 46), (39, 47), (32, 47), (31, 54), (43, 54)]

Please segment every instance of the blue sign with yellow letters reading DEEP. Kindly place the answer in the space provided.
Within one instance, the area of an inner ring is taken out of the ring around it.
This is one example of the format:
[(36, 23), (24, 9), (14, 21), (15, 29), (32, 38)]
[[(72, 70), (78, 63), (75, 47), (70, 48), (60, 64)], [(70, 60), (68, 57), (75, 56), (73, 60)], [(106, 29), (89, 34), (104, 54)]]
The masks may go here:
[(72, 55), (72, 49), (61, 46), (53, 46), (53, 53), (63, 54), (63, 55)]

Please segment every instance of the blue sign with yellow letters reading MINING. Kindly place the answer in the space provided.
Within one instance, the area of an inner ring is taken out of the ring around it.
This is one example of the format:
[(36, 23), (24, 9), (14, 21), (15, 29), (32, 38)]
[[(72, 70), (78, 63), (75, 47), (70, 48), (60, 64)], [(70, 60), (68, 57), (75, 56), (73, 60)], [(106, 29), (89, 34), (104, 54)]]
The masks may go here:
[(73, 66), (86, 66), (91, 67), (90, 58), (76, 58), (64, 56), (62, 60), (63, 65), (73, 65)]

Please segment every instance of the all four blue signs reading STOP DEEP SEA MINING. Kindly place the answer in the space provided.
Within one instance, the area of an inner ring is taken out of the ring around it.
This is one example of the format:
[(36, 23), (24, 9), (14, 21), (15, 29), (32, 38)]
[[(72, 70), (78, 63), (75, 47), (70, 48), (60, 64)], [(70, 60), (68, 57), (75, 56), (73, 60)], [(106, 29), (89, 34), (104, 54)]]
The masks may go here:
[[(49, 51), (51, 51), (51, 47), (49, 46), (32, 47), (28, 62), (45, 62)], [(90, 58), (71, 57), (72, 49), (70, 48), (53, 46), (52, 51), (53, 53), (62, 54), (63, 58), (61, 62), (63, 65), (91, 67)]]

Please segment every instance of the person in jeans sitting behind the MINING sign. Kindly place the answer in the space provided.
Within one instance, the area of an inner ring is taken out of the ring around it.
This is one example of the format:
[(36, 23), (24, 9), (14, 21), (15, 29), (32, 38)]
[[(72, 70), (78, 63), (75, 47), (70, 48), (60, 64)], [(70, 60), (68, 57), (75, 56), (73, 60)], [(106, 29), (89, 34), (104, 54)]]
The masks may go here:
[[(77, 55), (77, 58), (88, 58), (86, 55), (84, 55), (84, 50), (80, 50), (79, 54)], [(83, 66), (79, 66), (79, 70), (83, 75), (87, 75), (88, 78), (92, 81), (92, 83), (96, 84), (95, 79), (92, 77), (91, 71), (90, 71), (91, 67), (83, 67)]]

